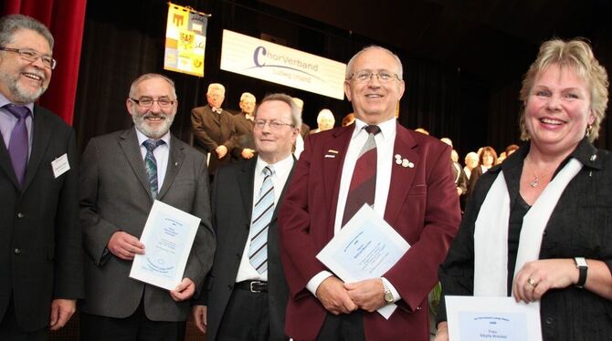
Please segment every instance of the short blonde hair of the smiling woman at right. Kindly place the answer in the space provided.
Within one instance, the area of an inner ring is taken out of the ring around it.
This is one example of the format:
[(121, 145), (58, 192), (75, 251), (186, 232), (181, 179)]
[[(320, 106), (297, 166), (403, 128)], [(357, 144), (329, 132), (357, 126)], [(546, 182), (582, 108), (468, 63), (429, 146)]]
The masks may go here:
[(525, 126), (525, 110), (527, 99), (532, 92), (535, 78), (547, 67), (558, 65), (559, 67), (573, 67), (578, 77), (586, 81), (591, 95), (591, 110), (595, 117), (590, 129), (586, 129), (586, 135), (590, 142), (599, 136), (599, 126), (606, 117), (607, 109), (607, 72), (593, 55), (590, 45), (581, 39), (564, 41), (551, 39), (542, 44), (538, 57), (522, 79), (520, 99), (523, 109), (521, 119), (521, 140), (529, 140), (529, 131)]

